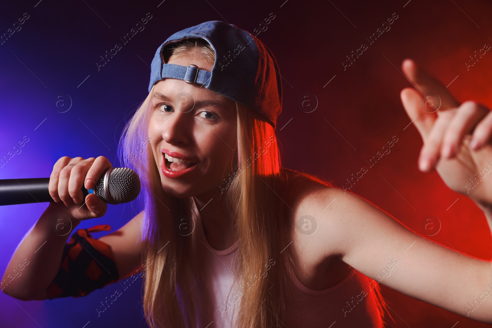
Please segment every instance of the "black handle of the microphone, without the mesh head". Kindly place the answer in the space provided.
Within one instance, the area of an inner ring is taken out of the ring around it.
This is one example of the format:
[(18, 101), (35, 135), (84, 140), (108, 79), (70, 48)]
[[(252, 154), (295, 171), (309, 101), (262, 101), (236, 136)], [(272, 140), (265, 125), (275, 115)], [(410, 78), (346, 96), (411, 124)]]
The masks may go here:
[[(48, 185), (50, 178), (0, 179), (0, 206), (54, 202)], [(84, 198), (89, 191), (82, 186)]]

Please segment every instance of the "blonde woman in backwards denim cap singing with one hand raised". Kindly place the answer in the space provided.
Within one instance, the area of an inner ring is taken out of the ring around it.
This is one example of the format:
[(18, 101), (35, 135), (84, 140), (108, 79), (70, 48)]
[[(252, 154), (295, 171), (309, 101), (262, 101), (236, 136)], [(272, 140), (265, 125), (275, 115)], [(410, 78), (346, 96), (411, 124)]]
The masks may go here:
[[(21, 242), (2, 281), (36, 251), (31, 271), (4, 293), (78, 297), (131, 283), (138, 274), (153, 328), (381, 327), (381, 282), (492, 323), (490, 262), (463, 261), (361, 197), (282, 168), (274, 132), (281, 76), (258, 39), (237, 45), (248, 35), (212, 21), (173, 34), (157, 49), (149, 95), (120, 144), (121, 162), (142, 180), (143, 210), (112, 234), (92, 239), (90, 232), (107, 227), (79, 229), (66, 243), (68, 236), (55, 232), (63, 218), (75, 227), (106, 212), (97, 196), (84, 199), (81, 187), (94, 187), (112, 164), (103, 156), (60, 158), (50, 178), (55, 202)], [(492, 183), (463, 188), (492, 158), (488, 110), (460, 105), (411, 60), (403, 70), (420, 92), (443, 100), (430, 113), (420, 107), (421, 93), (401, 92), (425, 142), (421, 157), (430, 165), (422, 169), (437, 163), (448, 186), (472, 198), (491, 225)], [(471, 131), (470, 143), (461, 132)]]

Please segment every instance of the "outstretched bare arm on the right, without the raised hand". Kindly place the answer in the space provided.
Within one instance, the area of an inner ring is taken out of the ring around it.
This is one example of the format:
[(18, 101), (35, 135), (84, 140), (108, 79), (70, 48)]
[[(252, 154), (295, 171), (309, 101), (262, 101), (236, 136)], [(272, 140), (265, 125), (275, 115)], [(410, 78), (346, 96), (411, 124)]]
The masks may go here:
[(417, 235), (362, 197), (341, 189), (311, 187), (296, 217), (305, 214), (317, 220), (318, 231), (296, 238), (305, 239), (314, 257), (338, 254), (346, 264), (400, 293), (492, 323), (491, 262)]

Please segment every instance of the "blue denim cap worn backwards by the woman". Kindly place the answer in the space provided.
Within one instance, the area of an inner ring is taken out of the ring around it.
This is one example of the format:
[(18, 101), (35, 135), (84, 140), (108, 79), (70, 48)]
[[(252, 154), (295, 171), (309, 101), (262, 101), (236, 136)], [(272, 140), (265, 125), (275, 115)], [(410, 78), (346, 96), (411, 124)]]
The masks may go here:
[[(164, 48), (184, 38), (199, 37), (215, 52), (212, 71), (196, 65), (164, 63)], [(254, 35), (221, 21), (205, 22), (174, 33), (155, 52), (149, 92), (164, 78), (205, 86), (261, 114), (274, 128), (282, 111), (282, 84), (277, 60)]]

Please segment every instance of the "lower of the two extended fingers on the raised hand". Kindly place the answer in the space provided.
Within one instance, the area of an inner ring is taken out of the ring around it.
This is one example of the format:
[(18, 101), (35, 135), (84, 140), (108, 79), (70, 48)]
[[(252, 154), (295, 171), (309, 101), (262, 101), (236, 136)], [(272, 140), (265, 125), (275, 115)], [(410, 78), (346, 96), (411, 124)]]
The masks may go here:
[(422, 95), (416, 89), (405, 88), (401, 90), (400, 99), (408, 118), (413, 121), (425, 143), (434, 121), (437, 119), (437, 114), (427, 112), (422, 108)]

